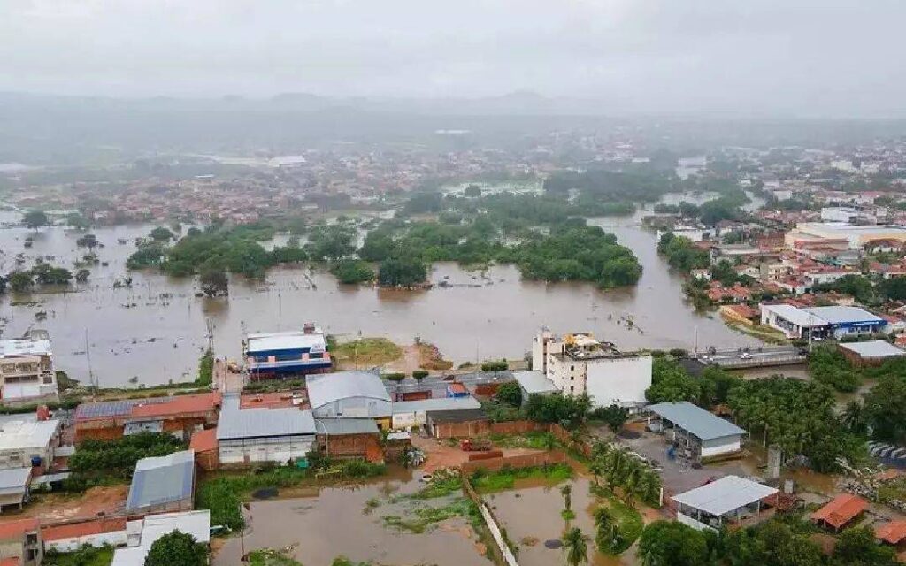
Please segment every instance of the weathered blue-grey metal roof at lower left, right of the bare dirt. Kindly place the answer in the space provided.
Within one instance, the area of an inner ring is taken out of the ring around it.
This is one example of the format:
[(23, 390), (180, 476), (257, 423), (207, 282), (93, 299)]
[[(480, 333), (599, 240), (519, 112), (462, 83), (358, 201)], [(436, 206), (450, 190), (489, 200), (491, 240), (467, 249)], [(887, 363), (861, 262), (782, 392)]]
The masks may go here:
[(168, 456), (142, 458), (135, 465), (126, 510), (183, 501), (192, 496), (195, 479), (195, 451), (183, 450)]

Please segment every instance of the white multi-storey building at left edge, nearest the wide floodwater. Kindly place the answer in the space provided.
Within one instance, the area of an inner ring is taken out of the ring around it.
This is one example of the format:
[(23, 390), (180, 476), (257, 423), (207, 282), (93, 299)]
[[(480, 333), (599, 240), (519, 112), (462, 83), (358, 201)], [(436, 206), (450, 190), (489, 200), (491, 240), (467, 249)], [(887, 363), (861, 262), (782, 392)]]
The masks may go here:
[(53, 350), (45, 331), (0, 341), (0, 400), (57, 398)]

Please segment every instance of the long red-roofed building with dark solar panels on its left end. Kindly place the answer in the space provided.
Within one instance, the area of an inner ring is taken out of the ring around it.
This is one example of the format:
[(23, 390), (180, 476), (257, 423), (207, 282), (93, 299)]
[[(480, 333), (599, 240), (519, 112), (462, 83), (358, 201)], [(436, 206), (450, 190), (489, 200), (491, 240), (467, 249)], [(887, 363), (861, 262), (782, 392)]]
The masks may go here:
[(169, 432), (184, 440), (217, 423), (220, 393), (82, 403), (75, 409), (75, 440)]

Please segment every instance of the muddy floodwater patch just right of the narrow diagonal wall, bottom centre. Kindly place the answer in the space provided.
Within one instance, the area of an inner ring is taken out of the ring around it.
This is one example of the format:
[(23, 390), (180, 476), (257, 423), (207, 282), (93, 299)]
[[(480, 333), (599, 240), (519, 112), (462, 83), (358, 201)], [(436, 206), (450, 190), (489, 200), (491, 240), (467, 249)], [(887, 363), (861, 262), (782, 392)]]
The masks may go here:
[(564, 498), (560, 494), (562, 484), (521, 480), (517, 481), (515, 489), (485, 495), (485, 502), (491, 505), (497, 520), (503, 523), (501, 528), (506, 529), (509, 539), (519, 547), (516, 560), (520, 566), (564, 563), (563, 549), (549, 549), (545, 546), (545, 541), (560, 539), (567, 527), (579, 527), (592, 538), (588, 543), (588, 563), (591, 566), (636, 564), (633, 548), (621, 556), (610, 556), (597, 551), (592, 513), (598, 504), (595, 496), (589, 493), (590, 481), (586, 477), (576, 476), (565, 483), (573, 485), (573, 512), (576, 515), (568, 525), (560, 515), (564, 509)]

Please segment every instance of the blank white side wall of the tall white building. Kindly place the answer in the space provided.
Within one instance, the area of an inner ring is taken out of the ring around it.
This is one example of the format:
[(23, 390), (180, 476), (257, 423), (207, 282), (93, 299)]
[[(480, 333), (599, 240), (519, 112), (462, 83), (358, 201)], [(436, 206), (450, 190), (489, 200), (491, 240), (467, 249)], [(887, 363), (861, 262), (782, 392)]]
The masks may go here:
[(586, 391), (595, 407), (645, 402), (651, 387), (651, 356), (589, 360)]

